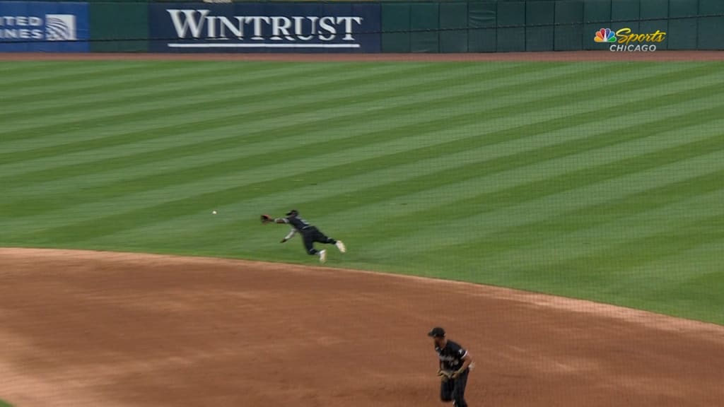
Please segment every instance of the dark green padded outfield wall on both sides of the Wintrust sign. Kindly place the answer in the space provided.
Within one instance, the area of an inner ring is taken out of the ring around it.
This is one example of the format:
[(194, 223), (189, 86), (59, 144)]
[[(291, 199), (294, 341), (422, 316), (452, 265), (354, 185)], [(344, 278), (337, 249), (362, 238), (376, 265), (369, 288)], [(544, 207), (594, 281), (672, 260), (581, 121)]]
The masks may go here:
[[(90, 1), (92, 51), (148, 51), (146, 1)], [(724, 49), (724, 0), (381, 1), (383, 52), (607, 49), (600, 28), (667, 33), (657, 49)], [(699, 17), (707, 16), (707, 17)]]

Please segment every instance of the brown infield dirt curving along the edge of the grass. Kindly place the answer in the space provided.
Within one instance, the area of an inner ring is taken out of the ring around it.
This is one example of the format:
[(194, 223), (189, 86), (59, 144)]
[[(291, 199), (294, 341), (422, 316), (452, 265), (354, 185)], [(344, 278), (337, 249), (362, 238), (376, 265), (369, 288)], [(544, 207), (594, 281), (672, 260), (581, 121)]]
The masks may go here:
[(586, 301), (223, 259), (0, 249), (0, 396), (23, 406), (715, 406), (724, 327)]

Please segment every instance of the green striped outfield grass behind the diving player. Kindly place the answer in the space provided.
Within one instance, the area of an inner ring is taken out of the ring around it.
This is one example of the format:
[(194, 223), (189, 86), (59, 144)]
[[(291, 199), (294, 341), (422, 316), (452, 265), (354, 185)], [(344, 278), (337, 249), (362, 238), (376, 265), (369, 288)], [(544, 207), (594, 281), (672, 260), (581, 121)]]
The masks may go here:
[[(0, 246), (469, 280), (724, 324), (724, 64), (1, 62)], [(219, 214), (212, 215), (217, 210)]]

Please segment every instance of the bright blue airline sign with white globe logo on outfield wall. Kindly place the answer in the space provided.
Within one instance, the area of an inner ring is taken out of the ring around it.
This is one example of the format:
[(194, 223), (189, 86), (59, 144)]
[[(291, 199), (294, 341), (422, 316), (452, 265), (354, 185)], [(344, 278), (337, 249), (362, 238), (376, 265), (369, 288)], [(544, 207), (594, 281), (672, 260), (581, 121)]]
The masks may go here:
[(88, 52), (88, 4), (0, 1), (0, 51)]

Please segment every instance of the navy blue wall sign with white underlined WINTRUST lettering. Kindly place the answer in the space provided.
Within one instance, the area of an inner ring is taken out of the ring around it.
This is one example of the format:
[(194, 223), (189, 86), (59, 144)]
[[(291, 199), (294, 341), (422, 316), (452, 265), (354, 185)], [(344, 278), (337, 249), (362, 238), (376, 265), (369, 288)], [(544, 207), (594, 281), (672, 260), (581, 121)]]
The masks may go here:
[(379, 52), (379, 4), (150, 4), (151, 51)]

